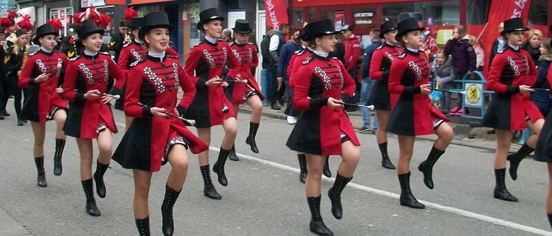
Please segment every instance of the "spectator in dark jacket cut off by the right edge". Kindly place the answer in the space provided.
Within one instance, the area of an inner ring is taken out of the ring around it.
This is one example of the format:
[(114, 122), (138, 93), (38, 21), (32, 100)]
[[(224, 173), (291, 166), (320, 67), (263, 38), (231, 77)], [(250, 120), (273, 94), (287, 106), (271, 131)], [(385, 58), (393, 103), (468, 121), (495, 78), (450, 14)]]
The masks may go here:
[(533, 87), (543, 90), (535, 90), (531, 93), (531, 100), (537, 105), (542, 113), (542, 116), (548, 115), (551, 107), (552, 100), (550, 98), (550, 92), (544, 91), (544, 89), (550, 89), (550, 85), (546, 80), (546, 74), (549, 71), (550, 63), (552, 62), (552, 50), (550, 46), (550, 39), (544, 39), (540, 45), (540, 60), (538, 63), (538, 78)]

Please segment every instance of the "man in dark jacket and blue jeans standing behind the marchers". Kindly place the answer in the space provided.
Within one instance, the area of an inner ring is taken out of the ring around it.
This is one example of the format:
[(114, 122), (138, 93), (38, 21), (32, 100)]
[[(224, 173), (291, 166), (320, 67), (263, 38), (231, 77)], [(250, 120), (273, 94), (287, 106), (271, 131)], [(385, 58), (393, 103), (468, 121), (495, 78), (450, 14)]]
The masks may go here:
[[(370, 93), (374, 85), (374, 81), (372, 81), (372, 79), (370, 78), (369, 73), (370, 63), (372, 61), (372, 54), (377, 47), (380, 47), (382, 45), (382, 39), (380, 38), (381, 32), (382, 31), (378, 29), (374, 29), (370, 32), (370, 39), (372, 40), (372, 44), (366, 47), (364, 59), (362, 60), (362, 85), (360, 86), (360, 104), (362, 105), (366, 105), (366, 103), (368, 102), (368, 98), (370, 97)], [(362, 111), (362, 128), (360, 128), (359, 131), (361, 133), (366, 133), (371, 130), (372, 133), (375, 133), (375, 131), (377, 131), (377, 118), (374, 116), (373, 127), (371, 127), (370, 110), (366, 107), (361, 107), (360, 111)]]

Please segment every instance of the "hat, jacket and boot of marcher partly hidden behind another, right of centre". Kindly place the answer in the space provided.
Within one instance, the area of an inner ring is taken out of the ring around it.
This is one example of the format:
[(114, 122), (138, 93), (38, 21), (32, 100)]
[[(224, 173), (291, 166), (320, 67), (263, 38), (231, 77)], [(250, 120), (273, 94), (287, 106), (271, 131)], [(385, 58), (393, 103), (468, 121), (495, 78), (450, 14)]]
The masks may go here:
[[(386, 32), (397, 30), (397, 23), (386, 21), (381, 25), (381, 29), (380, 38), (384, 39), (384, 34)], [(391, 63), (393, 63), (402, 52), (403, 50), (399, 45), (391, 45), (384, 42), (372, 54), (369, 69), (370, 78), (374, 80), (375, 83), (370, 97), (368, 98), (368, 104), (366, 105), (373, 105), (376, 111), (391, 111), (391, 107), (393, 107), (397, 100), (396, 94), (393, 94), (393, 96), (389, 94), (387, 86)], [(377, 146), (382, 153), (382, 166), (387, 169), (395, 169), (395, 166), (391, 160), (389, 160), (387, 142), (378, 143)]]

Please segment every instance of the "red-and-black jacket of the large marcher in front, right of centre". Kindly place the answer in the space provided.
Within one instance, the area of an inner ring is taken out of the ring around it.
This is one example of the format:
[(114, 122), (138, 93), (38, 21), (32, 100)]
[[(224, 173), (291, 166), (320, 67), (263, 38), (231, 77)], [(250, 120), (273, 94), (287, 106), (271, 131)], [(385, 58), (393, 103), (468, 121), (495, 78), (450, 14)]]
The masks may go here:
[(297, 124), (286, 145), (293, 151), (315, 155), (341, 155), (342, 133), (356, 146), (360, 142), (355, 129), (342, 108), (327, 106), (328, 98), (352, 96), (355, 81), (341, 61), (315, 54), (302, 63), (297, 72), (293, 107), (301, 110)]

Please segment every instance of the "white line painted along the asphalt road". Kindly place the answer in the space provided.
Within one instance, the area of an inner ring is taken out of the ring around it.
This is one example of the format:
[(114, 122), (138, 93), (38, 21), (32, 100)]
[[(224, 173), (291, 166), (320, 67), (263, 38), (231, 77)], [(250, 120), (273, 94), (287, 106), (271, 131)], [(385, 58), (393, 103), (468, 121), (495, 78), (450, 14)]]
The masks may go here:
[[(210, 147), (210, 149), (213, 150), (213, 151), (220, 151), (220, 149), (217, 148), (217, 147)], [(260, 159), (260, 158), (255, 158), (253, 156), (245, 155), (245, 154), (242, 154), (242, 153), (236, 153), (236, 155), (239, 158), (243, 158), (243, 159), (246, 159), (246, 160), (251, 160), (251, 161), (254, 161), (254, 162), (259, 162), (261, 164), (265, 164), (265, 165), (270, 166), (270, 167), (275, 167), (275, 168), (278, 168), (278, 169), (283, 169), (283, 170), (286, 170), (286, 171), (299, 173), (299, 169), (297, 169), (295, 167), (286, 166), (285, 164), (279, 164), (279, 163), (276, 163), (276, 162), (271, 162), (269, 160), (263, 160), (263, 159)], [(328, 182), (334, 182), (335, 181), (335, 178), (327, 178), (326, 176), (322, 176), (322, 179), (326, 180)], [(374, 189), (374, 188), (364, 186), (364, 185), (361, 185), (361, 184), (349, 183), (348, 186), (351, 186), (355, 189), (359, 189), (359, 190), (362, 190), (362, 191), (366, 191), (368, 193), (375, 193), (377, 195), (382, 195), (382, 196), (385, 196), (385, 197), (391, 197), (391, 198), (394, 198), (394, 199), (397, 199), (397, 200), (400, 197), (400, 195), (397, 194), (397, 193), (391, 193), (391, 192), (388, 192), (388, 191), (383, 191), (381, 189)], [(422, 204), (425, 204), (426, 206), (431, 207), (431, 208), (435, 208), (435, 209), (438, 209), (438, 210), (441, 210), (441, 211), (446, 211), (446, 212), (449, 212), (449, 213), (454, 213), (454, 214), (457, 214), (457, 215), (463, 215), (465, 217), (470, 217), (470, 218), (473, 218), (473, 219), (479, 219), (479, 220), (482, 220), (484, 222), (489, 222), (489, 223), (492, 223), (492, 224), (500, 224), (502, 226), (506, 226), (506, 227), (509, 227), (509, 228), (515, 228), (517, 230), (523, 230), (523, 231), (526, 231), (526, 232), (529, 232), (529, 233), (535, 233), (537, 235), (552, 235), (552, 232), (542, 230), (540, 228), (534, 228), (534, 227), (526, 226), (526, 225), (523, 225), (523, 224), (517, 224), (515, 222), (509, 222), (509, 221), (504, 220), (504, 219), (498, 219), (498, 218), (490, 217), (490, 216), (487, 216), (487, 215), (481, 215), (481, 214), (478, 214), (478, 213), (473, 213), (471, 211), (464, 211), (462, 209), (454, 208), (454, 207), (451, 207), (451, 206), (444, 206), (444, 205), (433, 203), (433, 202), (427, 202), (427, 201), (424, 201), (424, 200), (418, 200), (418, 201), (422, 202)]]

